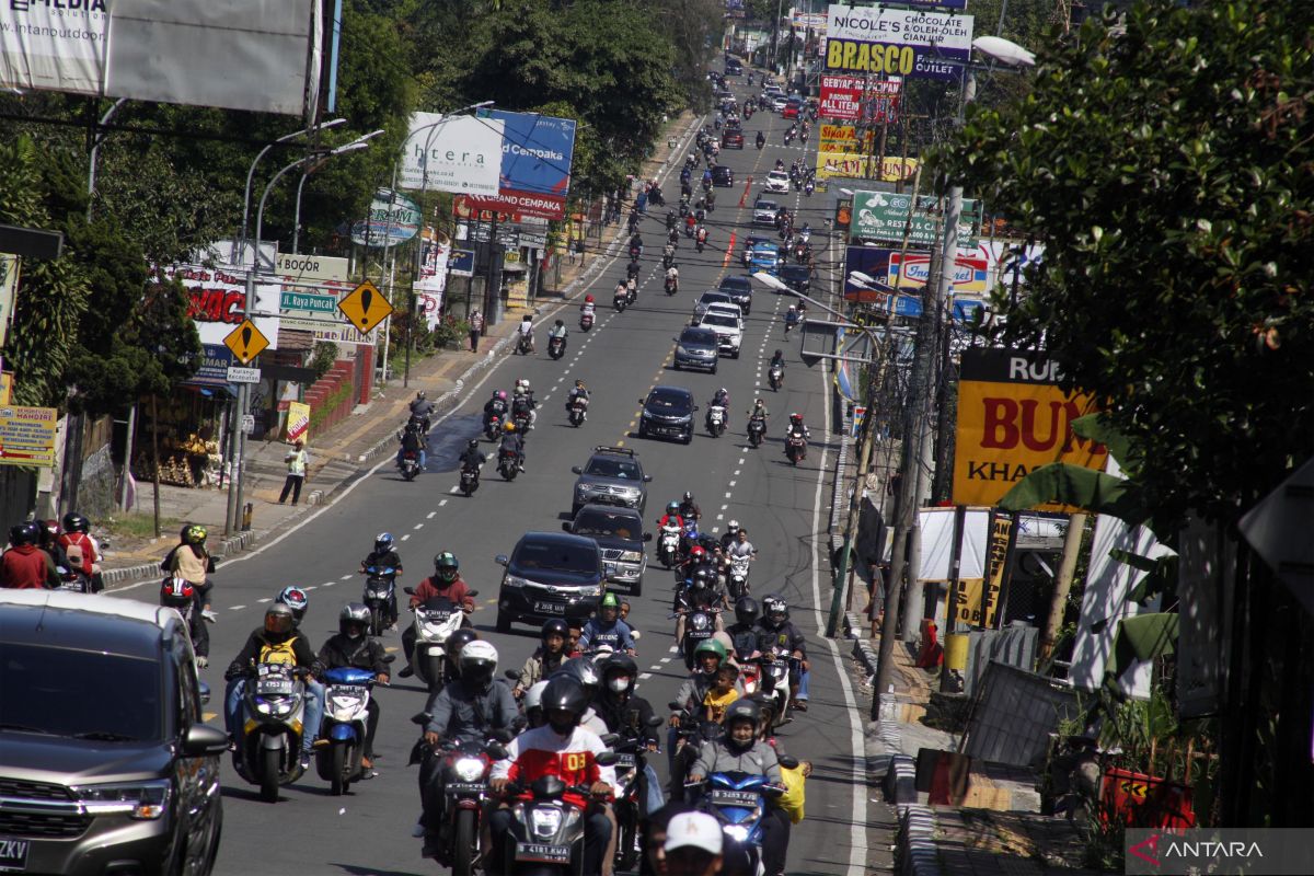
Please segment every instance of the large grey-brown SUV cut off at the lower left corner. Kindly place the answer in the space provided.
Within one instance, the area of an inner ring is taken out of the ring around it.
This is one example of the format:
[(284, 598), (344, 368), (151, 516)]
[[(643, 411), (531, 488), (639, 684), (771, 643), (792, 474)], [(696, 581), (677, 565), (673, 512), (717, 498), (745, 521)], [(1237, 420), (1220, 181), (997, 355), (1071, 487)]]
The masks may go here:
[(209, 873), (223, 732), (172, 608), (0, 590), (0, 872)]

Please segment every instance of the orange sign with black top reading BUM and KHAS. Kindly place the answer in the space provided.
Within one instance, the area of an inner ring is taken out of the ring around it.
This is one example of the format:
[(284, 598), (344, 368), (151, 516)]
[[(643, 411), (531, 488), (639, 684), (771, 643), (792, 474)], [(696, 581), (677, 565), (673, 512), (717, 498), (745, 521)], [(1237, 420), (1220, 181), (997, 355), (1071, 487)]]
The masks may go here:
[[(1012, 349), (962, 353), (954, 450), (955, 504), (993, 506), (1033, 469), (1068, 462), (1104, 469), (1109, 452), (1072, 433), (1097, 408), (1088, 394), (1059, 389), (1054, 361)], [(1041, 511), (1066, 511), (1041, 506)]]

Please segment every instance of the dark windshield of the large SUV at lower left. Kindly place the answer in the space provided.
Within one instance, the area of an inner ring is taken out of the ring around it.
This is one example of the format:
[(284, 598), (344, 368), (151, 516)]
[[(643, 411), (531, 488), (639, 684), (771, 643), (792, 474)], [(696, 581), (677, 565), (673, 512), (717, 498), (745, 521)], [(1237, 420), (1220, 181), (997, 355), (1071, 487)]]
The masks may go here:
[(0, 641), (0, 730), (96, 742), (164, 735), (155, 661)]

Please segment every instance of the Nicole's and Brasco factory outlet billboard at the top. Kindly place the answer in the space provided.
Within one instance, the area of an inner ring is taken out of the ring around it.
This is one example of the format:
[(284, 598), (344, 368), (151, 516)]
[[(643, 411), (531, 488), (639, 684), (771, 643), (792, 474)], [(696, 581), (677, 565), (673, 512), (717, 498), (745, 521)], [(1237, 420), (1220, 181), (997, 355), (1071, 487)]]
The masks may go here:
[(971, 16), (840, 4), (827, 16), (832, 71), (955, 79), (971, 51)]

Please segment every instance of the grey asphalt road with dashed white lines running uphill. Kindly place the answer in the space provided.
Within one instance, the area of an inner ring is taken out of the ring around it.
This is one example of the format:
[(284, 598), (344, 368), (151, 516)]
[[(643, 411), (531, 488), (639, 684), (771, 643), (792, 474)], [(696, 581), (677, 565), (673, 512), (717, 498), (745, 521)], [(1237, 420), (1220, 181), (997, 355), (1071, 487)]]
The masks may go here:
[[(639, 452), (653, 475), (646, 517), (654, 520), (666, 500), (692, 490), (703, 507), (704, 528), (723, 531), (732, 517), (748, 527), (759, 549), (752, 575), (754, 594), (761, 598), (781, 592), (796, 607), (794, 620), (809, 640), (812, 708), (783, 728), (781, 737), (791, 754), (811, 759), (816, 772), (807, 785), (807, 820), (794, 830), (788, 872), (854, 876), (862, 872), (869, 795), (858, 766), (861, 722), (838, 651), (817, 636), (827, 608), (820, 595), (825, 580), (819, 563), (824, 558), (817, 550), (828, 544), (829, 470), (834, 462), (827, 435), (828, 377), (804, 368), (795, 349), (783, 391), (771, 394), (766, 387), (766, 361), (777, 347), (784, 347), (781, 314), (787, 307), (786, 299), (767, 290), (756, 293), (738, 361), (723, 360), (716, 376), (674, 372), (669, 366), (671, 338), (687, 322), (694, 297), (714, 288), (725, 272), (738, 272), (741, 244), (736, 243), (733, 259), (725, 247), (732, 234), (737, 242), (742, 240), (752, 218), (752, 194), (744, 209), (736, 206), (745, 177), (749, 173), (757, 177), (756, 193), (777, 158), (788, 163), (805, 154), (798, 147), (781, 146), (783, 125), (777, 117), (754, 116), (745, 127), (748, 148), (723, 154), (723, 163), (735, 169), (737, 184), (717, 190), (720, 206), (711, 217), (711, 248), (696, 255), (690, 242), (681, 244), (679, 296), (662, 293), (664, 232), (661, 217), (650, 214), (643, 226), (648, 255), (637, 306), (624, 314), (600, 307), (591, 332), (572, 332), (562, 361), (552, 361), (543, 353), (511, 356), (490, 369), (470, 387), (466, 403), (435, 429), (428, 474), (406, 483), (384, 464), (288, 535), (219, 569), (215, 607), (221, 623), (212, 626), (214, 666), (206, 672), (217, 693), (209, 707), (213, 712), (222, 711), (218, 692), (223, 667), (281, 587), (297, 584), (310, 591), (304, 629), (313, 646), (318, 647), (335, 632), (342, 604), (360, 599), (361, 579), (352, 573), (380, 531), (390, 531), (401, 540), (410, 584), (427, 573), (436, 552), (456, 552), (463, 575), (480, 591), (480, 611), (473, 615), (476, 626), (497, 645), (503, 668), (519, 667), (536, 645), (536, 634), (528, 626), (516, 626), (511, 634), (494, 632), (491, 603), (502, 570), (493, 557), (510, 553), (526, 531), (560, 531), (561, 520), (568, 519), (574, 481), (570, 466), (582, 464), (597, 444), (624, 445)], [(774, 131), (771, 146), (762, 151), (752, 144), (759, 127)], [(807, 155), (811, 158), (812, 150)], [(665, 189), (678, 194), (674, 175)], [(820, 232), (828, 213), (823, 202), (829, 204), (829, 198), (804, 200), (794, 193), (787, 201), (802, 208), (800, 223), (809, 222), (819, 232), (815, 244), (825, 247), (828, 242)], [(838, 255), (837, 250), (823, 252), (819, 263), (833, 264)], [(594, 290), (600, 303), (611, 301), (611, 290), (623, 272), (624, 264), (616, 263), (597, 281)], [(565, 317), (574, 328), (573, 306)], [(505, 483), (490, 465), (480, 491), (465, 499), (453, 493), (455, 453), (477, 433), (477, 411), (490, 391), (510, 390), (519, 377), (530, 378), (545, 402), (537, 429), (528, 440), (528, 470), (514, 483)], [(583, 378), (593, 390), (589, 420), (579, 429), (566, 424), (562, 407), (574, 378)], [(703, 405), (717, 386), (725, 386), (732, 399), (731, 429), (720, 439), (700, 432), (689, 447), (639, 440), (636, 399), (654, 383), (686, 386)], [(773, 418), (770, 440), (754, 450), (744, 431), (744, 411), (758, 393), (769, 397)], [(804, 414), (815, 439), (808, 458), (798, 468), (784, 460), (781, 443), (790, 411)], [(631, 615), (643, 632), (639, 691), (660, 711), (683, 678), (681, 662), (673, 654), (673, 621), (668, 617), (670, 582), (669, 573), (654, 563), (644, 595), (632, 600)], [(150, 591), (147, 586), (130, 594), (146, 599)], [(399, 646), (396, 634), (386, 636), (385, 642), (390, 650)], [(381, 775), (355, 785), (348, 796), (335, 799), (317, 777), (306, 777), (285, 788), (277, 805), (263, 804), (255, 789), (225, 764), (225, 838), (218, 873), (399, 876), (438, 869), (435, 863), (419, 858), (419, 841), (410, 837), (418, 796), (415, 770), (406, 767), (415, 738), (409, 718), (422, 708), (424, 693), (418, 684), (399, 680), (392, 690), (378, 691), (378, 699), (384, 709), (378, 730)], [(212, 720), (222, 722), (222, 717)]]

